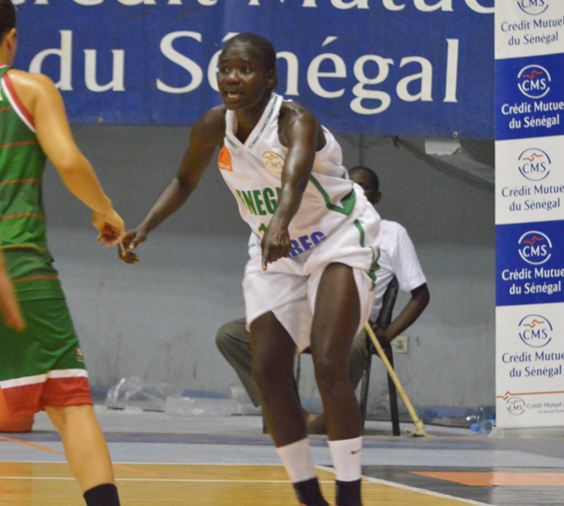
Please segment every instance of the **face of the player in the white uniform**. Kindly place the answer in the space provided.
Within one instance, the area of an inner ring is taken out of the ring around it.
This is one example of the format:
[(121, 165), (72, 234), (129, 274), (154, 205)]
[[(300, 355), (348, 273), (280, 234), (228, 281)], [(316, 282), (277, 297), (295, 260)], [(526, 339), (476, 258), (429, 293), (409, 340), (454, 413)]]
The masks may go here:
[(274, 87), (274, 71), (248, 42), (237, 42), (221, 54), (217, 84), (225, 107), (232, 110), (264, 107)]

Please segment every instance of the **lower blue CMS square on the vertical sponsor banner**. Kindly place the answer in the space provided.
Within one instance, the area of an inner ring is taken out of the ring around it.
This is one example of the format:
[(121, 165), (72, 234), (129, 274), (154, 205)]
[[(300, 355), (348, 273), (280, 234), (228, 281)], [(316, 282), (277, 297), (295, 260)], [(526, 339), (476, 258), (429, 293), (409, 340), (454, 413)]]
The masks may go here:
[(497, 305), (564, 302), (561, 221), (496, 226)]

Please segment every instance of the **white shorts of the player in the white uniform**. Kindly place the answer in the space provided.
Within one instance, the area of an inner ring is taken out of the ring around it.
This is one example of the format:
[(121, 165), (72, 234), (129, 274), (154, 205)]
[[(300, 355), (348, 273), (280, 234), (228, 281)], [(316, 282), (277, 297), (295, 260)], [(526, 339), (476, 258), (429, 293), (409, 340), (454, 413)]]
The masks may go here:
[(360, 216), (348, 218), (315, 247), (268, 264), (266, 271), (261, 266), (260, 240), (251, 236), (243, 279), (247, 329), (253, 320), (272, 311), (296, 343), (296, 351), (303, 351), (311, 342), (321, 275), (329, 264), (342, 263), (353, 268), (360, 300), (360, 331), (372, 309), (379, 243), (380, 217), (372, 206)]

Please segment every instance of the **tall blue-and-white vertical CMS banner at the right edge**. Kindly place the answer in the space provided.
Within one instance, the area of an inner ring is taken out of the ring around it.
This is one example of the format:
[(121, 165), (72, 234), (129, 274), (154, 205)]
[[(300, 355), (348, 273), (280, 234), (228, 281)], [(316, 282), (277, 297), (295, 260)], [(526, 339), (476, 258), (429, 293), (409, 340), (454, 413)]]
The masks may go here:
[(564, 426), (564, 0), (498, 0), (496, 422)]

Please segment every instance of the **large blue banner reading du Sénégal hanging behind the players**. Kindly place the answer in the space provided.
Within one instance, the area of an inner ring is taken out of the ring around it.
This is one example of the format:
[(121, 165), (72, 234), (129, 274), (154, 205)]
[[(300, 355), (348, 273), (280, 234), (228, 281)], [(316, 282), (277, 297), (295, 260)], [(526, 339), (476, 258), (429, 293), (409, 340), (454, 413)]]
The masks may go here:
[(278, 92), (337, 132), (492, 139), (494, 0), (16, 0), (15, 66), (73, 123), (191, 125), (233, 33), (278, 51)]

